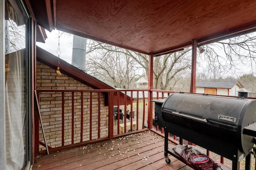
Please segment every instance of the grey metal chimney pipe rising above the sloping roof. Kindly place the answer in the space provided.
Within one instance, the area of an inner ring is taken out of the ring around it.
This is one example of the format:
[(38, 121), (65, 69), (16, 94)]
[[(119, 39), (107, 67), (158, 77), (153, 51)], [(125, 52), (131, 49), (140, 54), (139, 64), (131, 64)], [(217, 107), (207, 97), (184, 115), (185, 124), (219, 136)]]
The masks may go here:
[(73, 36), (72, 65), (85, 71), (86, 38)]

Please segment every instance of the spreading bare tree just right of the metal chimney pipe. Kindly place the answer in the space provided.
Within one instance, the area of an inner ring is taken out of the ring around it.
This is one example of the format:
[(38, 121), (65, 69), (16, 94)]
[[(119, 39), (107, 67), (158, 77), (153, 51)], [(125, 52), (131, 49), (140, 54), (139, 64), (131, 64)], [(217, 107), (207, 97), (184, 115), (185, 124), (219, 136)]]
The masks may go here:
[(129, 89), (138, 76), (137, 63), (124, 49), (102, 43), (90, 43), (86, 54), (86, 72), (116, 87)]

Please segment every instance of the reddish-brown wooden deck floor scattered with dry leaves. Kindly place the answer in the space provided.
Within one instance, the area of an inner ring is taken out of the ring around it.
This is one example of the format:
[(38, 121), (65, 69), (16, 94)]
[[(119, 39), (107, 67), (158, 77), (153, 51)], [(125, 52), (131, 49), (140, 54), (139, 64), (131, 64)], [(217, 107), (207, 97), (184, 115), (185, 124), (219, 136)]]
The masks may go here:
[[(169, 147), (172, 144), (169, 144)], [(192, 170), (173, 156), (164, 159), (164, 138), (153, 131), (40, 155), (33, 170)]]

